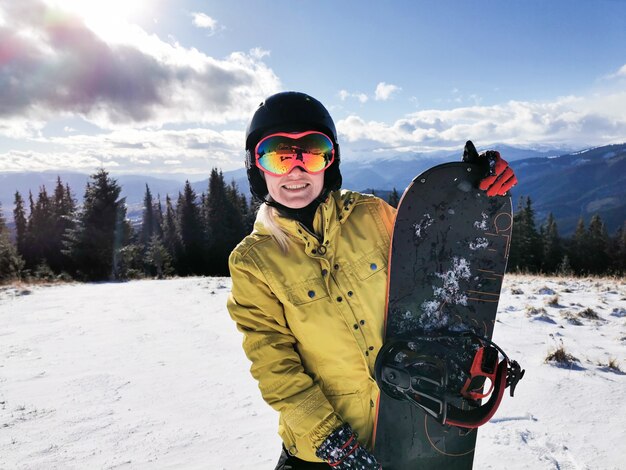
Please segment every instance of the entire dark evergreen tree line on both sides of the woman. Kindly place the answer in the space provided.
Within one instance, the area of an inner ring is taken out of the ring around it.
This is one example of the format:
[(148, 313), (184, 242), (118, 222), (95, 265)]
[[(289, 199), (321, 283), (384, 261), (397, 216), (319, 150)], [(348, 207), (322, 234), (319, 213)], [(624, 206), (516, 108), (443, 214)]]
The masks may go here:
[[(198, 195), (189, 181), (165, 205), (148, 185), (140, 223), (127, 217), (122, 188), (104, 169), (91, 175), (82, 205), (57, 178), (48, 193), (40, 188), (28, 201), (15, 193), (14, 241), (0, 210), (0, 281), (17, 278), (123, 280), (179, 275), (227, 276), (228, 256), (250, 233), (257, 201), (248, 203), (234, 182), (213, 169), (207, 191)], [(394, 190), (388, 202), (397, 207)], [(28, 204), (28, 211), (26, 205)], [(508, 271), (603, 275), (626, 271), (626, 223), (609, 236), (598, 215), (578, 222), (572, 237), (559, 235), (552, 214), (537, 228), (529, 197), (520, 198), (513, 218)]]

